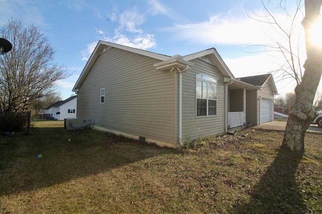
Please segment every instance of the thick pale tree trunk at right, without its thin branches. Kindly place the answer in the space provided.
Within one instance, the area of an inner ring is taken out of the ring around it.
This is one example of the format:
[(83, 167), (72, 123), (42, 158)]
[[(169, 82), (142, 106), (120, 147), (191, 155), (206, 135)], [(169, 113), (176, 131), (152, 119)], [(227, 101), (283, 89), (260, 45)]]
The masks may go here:
[(302, 25), (305, 31), (307, 59), (304, 63), (302, 81), (295, 88), (296, 101), (289, 111), (284, 139), (281, 148), (294, 151), (297, 156), (305, 152), (305, 132), (315, 117), (314, 96), (322, 74), (322, 48), (310, 41), (310, 28), (318, 20), (322, 0), (305, 0), (305, 18)]

